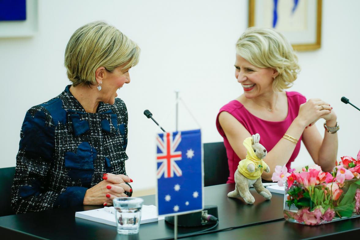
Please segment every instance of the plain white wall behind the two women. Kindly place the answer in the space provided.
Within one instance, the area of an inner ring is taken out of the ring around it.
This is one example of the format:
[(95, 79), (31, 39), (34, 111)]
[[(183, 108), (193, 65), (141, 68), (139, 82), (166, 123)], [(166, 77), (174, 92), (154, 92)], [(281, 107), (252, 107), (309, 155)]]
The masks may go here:
[[(341, 103), (347, 96), (360, 106), (358, 56), (360, 1), (323, 1), (320, 50), (299, 53), (302, 72), (291, 89), (328, 101), (338, 115), (339, 151), (355, 156), (359, 112)], [(131, 83), (118, 92), (129, 110), (126, 162), (134, 190), (155, 186), (156, 125), (145, 109), (171, 131), (175, 94), (180, 91), (201, 124), (203, 142), (222, 141), (215, 127), (220, 107), (242, 94), (234, 77), (234, 44), (247, 27), (248, 1), (39, 1), (39, 32), (32, 38), (0, 39), (0, 167), (15, 166), (19, 132), (26, 111), (63, 91), (69, 83), (63, 66), (71, 34), (83, 24), (105, 20), (141, 47)], [(323, 133), (323, 121), (317, 126)], [(179, 129), (197, 127), (180, 107)], [(311, 163), (305, 148), (293, 164)]]

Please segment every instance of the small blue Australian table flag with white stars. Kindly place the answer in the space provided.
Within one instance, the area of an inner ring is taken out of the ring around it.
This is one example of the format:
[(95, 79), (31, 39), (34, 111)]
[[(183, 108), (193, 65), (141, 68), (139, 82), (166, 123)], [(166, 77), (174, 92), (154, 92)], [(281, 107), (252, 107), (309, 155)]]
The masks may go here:
[(156, 145), (158, 214), (203, 209), (201, 131), (159, 133)]

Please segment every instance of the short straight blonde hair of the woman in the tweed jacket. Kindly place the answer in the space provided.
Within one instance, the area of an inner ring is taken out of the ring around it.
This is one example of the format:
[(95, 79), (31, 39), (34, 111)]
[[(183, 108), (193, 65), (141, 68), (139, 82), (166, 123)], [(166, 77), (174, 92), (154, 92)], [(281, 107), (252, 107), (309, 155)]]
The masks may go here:
[(126, 72), (139, 62), (140, 48), (115, 27), (96, 21), (78, 28), (65, 49), (67, 76), (75, 87), (94, 85), (95, 71), (104, 67), (114, 71), (122, 66)]

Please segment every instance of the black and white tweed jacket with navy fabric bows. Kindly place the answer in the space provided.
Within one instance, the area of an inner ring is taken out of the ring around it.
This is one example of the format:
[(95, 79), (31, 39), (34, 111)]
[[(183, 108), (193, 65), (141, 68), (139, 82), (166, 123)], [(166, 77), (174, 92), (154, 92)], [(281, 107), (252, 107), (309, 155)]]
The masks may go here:
[(81, 205), (103, 173), (126, 175), (125, 103), (100, 102), (86, 113), (70, 86), (25, 115), (12, 187), (16, 213)]

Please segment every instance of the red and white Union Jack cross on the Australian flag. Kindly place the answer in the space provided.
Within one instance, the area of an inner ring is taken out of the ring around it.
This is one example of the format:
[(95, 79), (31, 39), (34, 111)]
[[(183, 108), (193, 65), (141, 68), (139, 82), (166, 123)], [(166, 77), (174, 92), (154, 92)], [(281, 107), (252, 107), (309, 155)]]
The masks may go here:
[(161, 163), (156, 173), (157, 178), (161, 178), (163, 174), (165, 178), (174, 177), (174, 172), (178, 177), (183, 175), (183, 172), (181, 172), (181, 169), (175, 162), (181, 160), (181, 151), (175, 151), (180, 142), (181, 132), (178, 132), (174, 139), (172, 136), (170, 137), (170, 132), (167, 132), (166, 135), (163, 134), (163, 138), (157, 135), (156, 145), (161, 151), (157, 154), (156, 158), (157, 162)]

